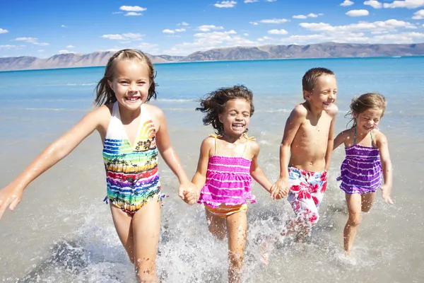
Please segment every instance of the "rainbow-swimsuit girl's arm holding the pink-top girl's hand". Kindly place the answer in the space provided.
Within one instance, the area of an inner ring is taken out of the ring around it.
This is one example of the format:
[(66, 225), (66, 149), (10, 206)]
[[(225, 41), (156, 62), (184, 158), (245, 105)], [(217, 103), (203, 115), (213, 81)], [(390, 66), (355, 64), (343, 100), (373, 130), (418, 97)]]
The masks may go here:
[[(196, 193), (196, 189), (190, 182), (189, 178), (187, 178), (184, 168), (182, 168), (182, 165), (179, 162), (177, 152), (175, 152), (175, 149), (172, 147), (170, 135), (167, 132), (165, 114), (162, 110), (156, 107), (151, 107), (151, 110), (153, 110), (159, 122), (159, 125), (156, 126), (158, 128), (156, 132), (156, 145), (158, 146), (163, 160), (178, 178), (178, 196), (181, 197), (184, 202), (194, 204), (192, 194)], [(189, 194), (190, 192), (192, 192), (192, 194)]]

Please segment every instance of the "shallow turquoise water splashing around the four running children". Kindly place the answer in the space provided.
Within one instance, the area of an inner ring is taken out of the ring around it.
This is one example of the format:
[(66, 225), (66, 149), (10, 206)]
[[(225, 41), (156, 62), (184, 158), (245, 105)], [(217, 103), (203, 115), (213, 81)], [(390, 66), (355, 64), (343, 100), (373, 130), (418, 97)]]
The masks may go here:
[[(347, 212), (336, 177), (343, 149), (334, 153), (322, 219), (311, 243), (287, 239), (262, 266), (258, 243), (293, 212), (258, 185), (259, 202), (249, 206), (245, 282), (423, 282), (424, 57), (285, 59), (156, 64), (158, 99), (172, 143), (189, 175), (196, 169), (201, 140), (211, 128), (201, 123), (197, 100), (218, 87), (245, 84), (254, 92), (249, 131), (261, 144), (259, 161), (271, 181), (278, 176), (278, 144), (288, 114), (302, 102), (307, 69), (336, 73), (340, 110), (336, 132), (354, 96), (377, 91), (388, 100), (380, 123), (394, 163), (393, 198), (377, 199), (364, 217), (351, 260), (343, 258)], [(93, 107), (94, 88), (104, 67), (0, 72), (0, 187)], [(5, 282), (133, 282), (132, 268), (102, 203), (105, 176), (98, 134), (25, 191), (16, 212), (0, 221), (0, 279)], [(160, 164), (163, 208), (158, 272), (163, 282), (225, 282), (225, 243), (207, 231), (202, 207), (187, 207), (177, 183)]]

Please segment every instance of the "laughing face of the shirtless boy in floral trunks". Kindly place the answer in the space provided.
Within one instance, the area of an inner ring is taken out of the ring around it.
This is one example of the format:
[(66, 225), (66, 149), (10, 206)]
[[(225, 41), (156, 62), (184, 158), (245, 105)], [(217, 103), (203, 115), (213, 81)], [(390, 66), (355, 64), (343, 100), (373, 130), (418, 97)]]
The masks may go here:
[(314, 83), (312, 91), (305, 91), (305, 99), (314, 108), (319, 110), (329, 110), (336, 101), (337, 82), (332, 75), (319, 76)]

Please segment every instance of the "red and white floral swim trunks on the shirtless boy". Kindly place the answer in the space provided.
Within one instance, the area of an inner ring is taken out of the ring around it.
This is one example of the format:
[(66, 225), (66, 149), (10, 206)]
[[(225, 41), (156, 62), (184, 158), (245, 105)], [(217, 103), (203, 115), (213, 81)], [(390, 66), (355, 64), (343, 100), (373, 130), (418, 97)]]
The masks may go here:
[(288, 175), (288, 202), (293, 207), (296, 218), (312, 228), (319, 219), (318, 208), (326, 189), (327, 171), (306, 171), (290, 166)]

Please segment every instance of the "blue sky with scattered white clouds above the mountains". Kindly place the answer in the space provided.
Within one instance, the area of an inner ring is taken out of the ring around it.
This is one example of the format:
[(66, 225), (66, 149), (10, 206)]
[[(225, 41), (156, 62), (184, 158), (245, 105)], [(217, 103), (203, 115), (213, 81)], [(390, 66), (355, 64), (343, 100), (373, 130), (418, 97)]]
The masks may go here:
[(424, 0), (4, 0), (0, 57), (424, 42)]

